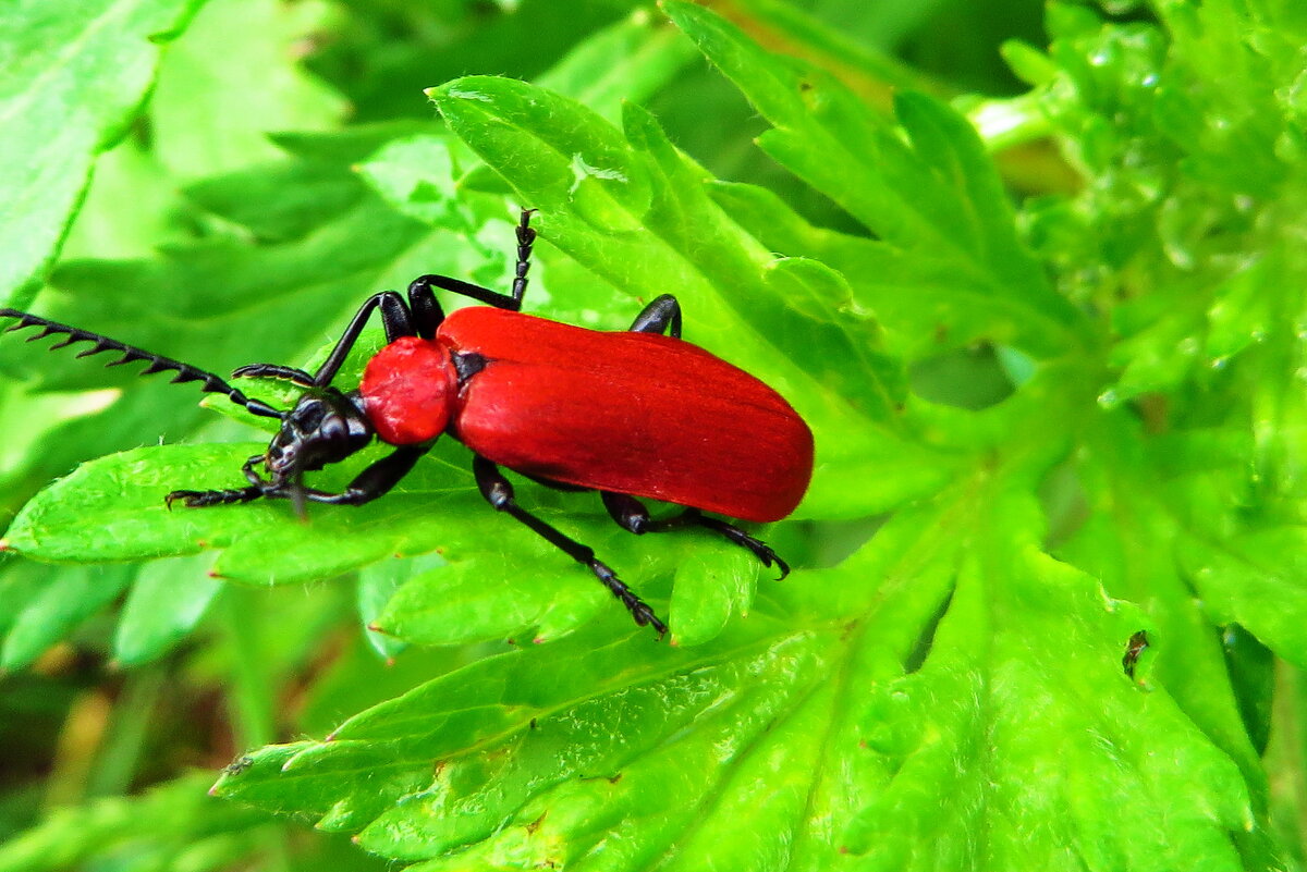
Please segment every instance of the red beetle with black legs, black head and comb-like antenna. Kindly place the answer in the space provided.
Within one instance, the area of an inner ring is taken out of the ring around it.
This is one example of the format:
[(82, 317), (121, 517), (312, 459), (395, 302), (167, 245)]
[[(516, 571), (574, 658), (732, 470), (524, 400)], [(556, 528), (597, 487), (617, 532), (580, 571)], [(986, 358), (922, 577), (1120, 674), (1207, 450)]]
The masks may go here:
[[(297, 512), (306, 500), (361, 505), (375, 500), (413, 469), (440, 433), (472, 449), (477, 487), (506, 512), (591, 572), (659, 633), (667, 625), (587, 546), (531, 514), (514, 497), (499, 466), (562, 490), (599, 491), (617, 523), (635, 534), (699, 526), (724, 535), (762, 560), (786, 563), (763, 542), (703, 512), (776, 521), (804, 496), (813, 467), (808, 426), (780, 394), (737, 367), (681, 339), (681, 307), (664, 294), (630, 332), (604, 333), (521, 315), (531, 247), (531, 210), (518, 226), (518, 270), (511, 294), (446, 275), (422, 275), (408, 302), (375, 294), (345, 329), (331, 355), (310, 375), (257, 363), (234, 376), (286, 379), (305, 394), (290, 411), (246, 397), (218, 376), (95, 333), (16, 309), (9, 329), (41, 325), (38, 339), (93, 342), (78, 356), (123, 352), (115, 363), (148, 360), (142, 375), (176, 371), (174, 381), (201, 381), (251, 413), (281, 420), (263, 454), (242, 467), (248, 486), (222, 491), (174, 491), (167, 504), (188, 506), (286, 497)], [(444, 288), (494, 308), (465, 308), (448, 317), (435, 300)], [(388, 345), (374, 356), (358, 390), (331, 385), (363, 325), (380, 309)], [(667, 335), (664, 335), (664, 333)], [(305, 487), (306, 471), (345, 459), (376, 436), (396, 449), (367, 466), (340, 493)], [(255, 469), (261, 465), (268, 478)], [(687, 506), (655, 521), (637, 497)]]

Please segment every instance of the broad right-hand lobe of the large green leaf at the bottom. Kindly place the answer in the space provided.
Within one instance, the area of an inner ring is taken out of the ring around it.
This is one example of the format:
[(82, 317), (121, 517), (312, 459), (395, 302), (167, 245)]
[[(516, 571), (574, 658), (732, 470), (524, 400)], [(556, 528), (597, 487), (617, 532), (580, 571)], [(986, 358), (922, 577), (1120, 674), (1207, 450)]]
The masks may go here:
[[(983, 581), (996, 559), (1001, 589)], [(1056, 868), (1068, 849), (1099, 868), (1243, 868), (1230, 834), (1255, 824), (1239, 770), (1166, 694), (1125, 680), (1121, 617), (1042, 555), (968, 560), (921, 671), (868, 701), (868, 751), (894, 775), (850, 850), (885, 869)], [(948, 799), (925, 802), (925, 785)], [(1140, 802), (1159, 813), (1140, 820)], [(1031, 830), (1013, 809), (1061, 824)]]

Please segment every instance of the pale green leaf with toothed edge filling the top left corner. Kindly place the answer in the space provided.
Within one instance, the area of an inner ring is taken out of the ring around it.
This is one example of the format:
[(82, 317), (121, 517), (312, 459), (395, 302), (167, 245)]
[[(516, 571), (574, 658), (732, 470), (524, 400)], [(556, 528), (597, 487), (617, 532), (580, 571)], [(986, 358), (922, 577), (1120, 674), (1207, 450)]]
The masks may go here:
[(0, 294), (26, 303), (54, 261), (95, 155), (123, 136), (158, 42), (197, 0), (26, 0), (0, 16)]

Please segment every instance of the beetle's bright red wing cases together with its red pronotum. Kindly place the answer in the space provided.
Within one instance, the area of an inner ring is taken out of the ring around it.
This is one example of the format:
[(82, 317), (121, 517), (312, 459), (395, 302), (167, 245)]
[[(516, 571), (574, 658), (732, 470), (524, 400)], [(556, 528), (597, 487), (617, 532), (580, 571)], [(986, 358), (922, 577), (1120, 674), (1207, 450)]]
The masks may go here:
[[(467, 354), (486, 364), (456, 386), (454, 358)], [(448, 426), (478, 456), (532, 478), (744, 521), (786, 517), (812, 476), (812, 433), (780, 394), (661, 334), (465, 308), (434, 339), (383, 349), (359, 393), (393, 445)]]

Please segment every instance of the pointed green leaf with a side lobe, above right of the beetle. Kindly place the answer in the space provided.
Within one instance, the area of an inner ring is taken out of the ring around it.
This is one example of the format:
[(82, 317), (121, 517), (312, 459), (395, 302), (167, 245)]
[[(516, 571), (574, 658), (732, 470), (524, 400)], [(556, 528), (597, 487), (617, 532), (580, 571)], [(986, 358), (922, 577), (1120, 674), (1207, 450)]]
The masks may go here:
[(948, 270), (950, 308), (999, 309), (992, 338), (1039, 356), (1084, 341), (1080, 313), (1017, 240), (1012, 206), (963, 117), (907, 93), (895, 101), (895, 129), (834, 78), (769, 55), (703, 7), (664, 8), (775, 125), (759, 145), (886, 243)]

